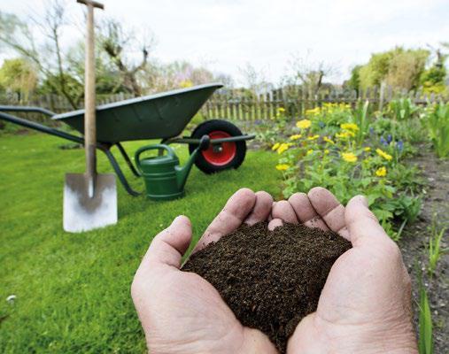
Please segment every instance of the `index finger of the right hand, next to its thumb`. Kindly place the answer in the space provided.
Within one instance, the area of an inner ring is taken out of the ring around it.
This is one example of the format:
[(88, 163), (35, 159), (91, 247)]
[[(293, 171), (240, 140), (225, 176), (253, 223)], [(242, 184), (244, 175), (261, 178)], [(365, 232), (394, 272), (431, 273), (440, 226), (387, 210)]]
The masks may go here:
[(315, 187), (308, 195), (314, 210), (332, 231), (349, 240), (349, 232), (344, 221), (344, 206), (328, 189)]

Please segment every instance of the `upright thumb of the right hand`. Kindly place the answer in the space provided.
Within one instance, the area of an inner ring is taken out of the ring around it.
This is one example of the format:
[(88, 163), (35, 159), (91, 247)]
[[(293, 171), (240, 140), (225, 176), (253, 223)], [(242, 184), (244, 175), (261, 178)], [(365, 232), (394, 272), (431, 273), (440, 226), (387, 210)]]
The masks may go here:
[(375, 214), (368, 209), (365, 196), (354, 196), (349, 201), (344, 212), (344, 219), (354, 247), (390, 240), (375, 218)]

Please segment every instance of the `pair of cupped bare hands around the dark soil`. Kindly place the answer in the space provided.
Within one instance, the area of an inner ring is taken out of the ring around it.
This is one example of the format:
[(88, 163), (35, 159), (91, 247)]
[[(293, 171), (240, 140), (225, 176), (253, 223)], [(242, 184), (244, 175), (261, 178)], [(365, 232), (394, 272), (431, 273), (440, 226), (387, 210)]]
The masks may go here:
[[(283, 221), (333, 230), (352, 242), (337, 259), (317, 311), (298, 324), (288, 353), (417, 353), (410, 278), (398, 246), (368, 210), (363, 196), (344, 206), (327, 189), (273, 203), (266, 192), (240, 189), (205, 230), (194, 251), (242, 223)], [(151, 242), (131, 294), (151, 354), (276, 353), (259, 330), (244, 327), (220, 294), (196, 273), (180, 271), (191, 242), (190, 220), (174, 219)]]

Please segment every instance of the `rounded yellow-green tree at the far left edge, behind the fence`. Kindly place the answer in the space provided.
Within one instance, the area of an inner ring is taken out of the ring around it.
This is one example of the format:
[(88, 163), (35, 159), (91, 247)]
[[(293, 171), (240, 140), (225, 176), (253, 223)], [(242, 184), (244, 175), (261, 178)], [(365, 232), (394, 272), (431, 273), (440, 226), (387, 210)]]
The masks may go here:
[(24, 58), (4, 60), (0, 68), (0, 87), (27, 97), (37, 84), (35, 68)]

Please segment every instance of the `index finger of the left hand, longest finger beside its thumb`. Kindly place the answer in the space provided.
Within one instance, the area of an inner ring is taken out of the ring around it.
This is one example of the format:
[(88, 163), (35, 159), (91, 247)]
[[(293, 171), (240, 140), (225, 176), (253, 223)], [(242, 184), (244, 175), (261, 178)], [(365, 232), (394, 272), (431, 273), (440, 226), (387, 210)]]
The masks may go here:
[(244, 219), (252, 212), (256, 203), (256, 195), (251, 189), (239, 189), (232, 195), (223, 210), (201, 236), (193, 252), (202, 250), (211, 242), (217, 242), (221, 236), (227, 235), (242, 225)]

